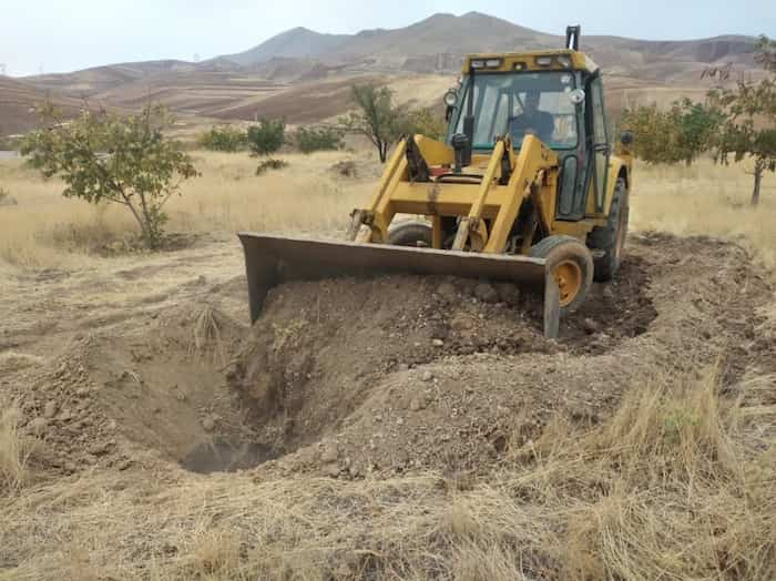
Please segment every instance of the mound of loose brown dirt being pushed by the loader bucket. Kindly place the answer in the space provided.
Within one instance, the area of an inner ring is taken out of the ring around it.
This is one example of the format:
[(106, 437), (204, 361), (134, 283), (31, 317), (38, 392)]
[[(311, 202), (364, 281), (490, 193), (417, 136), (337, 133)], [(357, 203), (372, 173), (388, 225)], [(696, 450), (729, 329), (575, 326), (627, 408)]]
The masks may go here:
[(658, 363), (692, 374), (722, 357), (733, 385), (766, 287), (736, 246), (646, 236), (553, 342), (511, 285), (293, 283), (270, 294), (229, 380), (283, 457), (261, 470), (481, 472), (529, 453), (554, 418), (598, 422)]

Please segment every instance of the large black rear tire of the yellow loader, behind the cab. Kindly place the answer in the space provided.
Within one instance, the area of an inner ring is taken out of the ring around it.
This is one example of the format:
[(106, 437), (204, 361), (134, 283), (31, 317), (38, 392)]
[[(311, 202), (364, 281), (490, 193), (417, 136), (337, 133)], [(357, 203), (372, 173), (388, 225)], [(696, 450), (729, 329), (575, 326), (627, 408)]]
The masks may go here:
[(593, 261), (595, 264), (594, 277), (599, 283), (611, 281), (620, 269), (627, 236), (629, 215), (627, 186), (625, 181), (620, 177), (614, 185), (614, 196), (606, 226), (596, 226), (588, 234), (588, 247), (603, 253)]

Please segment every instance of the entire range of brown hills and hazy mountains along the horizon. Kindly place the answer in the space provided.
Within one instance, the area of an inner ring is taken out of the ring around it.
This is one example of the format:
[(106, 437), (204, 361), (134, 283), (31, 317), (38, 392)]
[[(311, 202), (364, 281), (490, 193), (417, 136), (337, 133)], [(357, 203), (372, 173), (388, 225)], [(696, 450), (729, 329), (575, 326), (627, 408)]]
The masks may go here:
[[(581, 50), (604, 69), (610, 92), (620, 91), (612, 102), (697, 93), (704, 90), (701, 74), (708, 67), (757, 74), (755, 39), (749, 37), (647, 41), (582, 32)], [(399, 90), (412, 86), (408, 100), (423, 101), (417, 95), (427, 94), (431, 102), (453, 81), (467, 53), (561, 48), (563, 41), (561, 35), (479, 12), (439, 13), (405, 28), (356, 34), (295, 28), (244, 52), (197, 63), (108, 64), (8, 80), (0, 83), (0, 134), (22, 131), (29, 120), (14, 118), (11, 111), (29, 109), (43, 98), (70, 105), (73, 99), (85, 99), (122, 109), (154, 100), (182, 115), (251, 120), (273, 114), (294, 123), (344, 111), (353, 79), (368, 77)], [(419, 88), (425, 90), (418, 92)]]

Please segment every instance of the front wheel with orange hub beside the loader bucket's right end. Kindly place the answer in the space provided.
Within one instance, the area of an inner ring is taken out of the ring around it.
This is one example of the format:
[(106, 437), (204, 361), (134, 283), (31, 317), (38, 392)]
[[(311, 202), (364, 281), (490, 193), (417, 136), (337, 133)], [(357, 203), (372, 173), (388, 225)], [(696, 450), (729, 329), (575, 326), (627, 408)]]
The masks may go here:
[(531, 246), (529, 256), (544, 258), (558, 282), (561, 316), (584, 303), (593, 284), (593, 255), (573, 236), (548, 236)]

